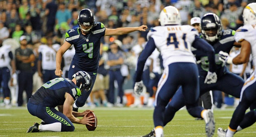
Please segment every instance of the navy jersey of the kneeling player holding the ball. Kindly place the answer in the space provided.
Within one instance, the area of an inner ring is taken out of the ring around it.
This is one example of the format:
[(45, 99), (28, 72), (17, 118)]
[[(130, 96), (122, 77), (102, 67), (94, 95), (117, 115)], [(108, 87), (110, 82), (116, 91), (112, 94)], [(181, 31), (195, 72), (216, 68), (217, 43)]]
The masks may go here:
[(43, 84), (31, 96), (29, 102), (45, 107), (57, 107), (64, 104), (65, 93), (69, 93), (74, 100), (81, 95), (80, 89), (71, 80), (55, 78)]

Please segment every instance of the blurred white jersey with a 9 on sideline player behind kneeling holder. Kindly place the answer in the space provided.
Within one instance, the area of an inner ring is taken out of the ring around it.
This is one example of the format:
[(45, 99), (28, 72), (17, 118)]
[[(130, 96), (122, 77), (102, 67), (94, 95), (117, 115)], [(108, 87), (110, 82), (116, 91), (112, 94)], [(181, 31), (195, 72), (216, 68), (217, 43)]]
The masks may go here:
[(42, 54), (39, 60), (42, 60), (43, 70), (55, 70), (56, 68), (56, 53), (60, 48), (59, 44), (53, 44), (52, 47), (47, 45), (40, 45), (38, 48), (38, 53)]

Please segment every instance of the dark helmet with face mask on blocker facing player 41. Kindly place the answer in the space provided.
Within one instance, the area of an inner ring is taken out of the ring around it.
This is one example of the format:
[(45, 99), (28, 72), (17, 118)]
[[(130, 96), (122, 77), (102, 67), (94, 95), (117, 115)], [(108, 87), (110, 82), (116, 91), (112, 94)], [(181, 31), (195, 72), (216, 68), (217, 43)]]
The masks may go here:
[[(212, 33), (209, 33), (211, 30)], [(222, 24), (220, 18), (214, 13), (207, 13), (201, 19), (201, 32), (208, 42), (215, 42), (220, 37)]]

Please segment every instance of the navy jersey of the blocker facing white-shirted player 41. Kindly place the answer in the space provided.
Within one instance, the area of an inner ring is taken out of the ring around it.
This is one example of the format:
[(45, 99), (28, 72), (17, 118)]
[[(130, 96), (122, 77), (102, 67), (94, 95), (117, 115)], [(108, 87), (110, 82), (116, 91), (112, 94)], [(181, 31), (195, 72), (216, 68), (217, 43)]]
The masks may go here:
[[(218, 59), (218, 53), (220, 51), (229, 53), (235, 42), (235, 30), (222, 30), (220, 39), (216, 42), (209, 42), (213, 49), (215, 50), (215, 62), (216, 62), (216, 73), (217, 75), (223, 74), (225, 72), (225, 67), (223, 67), (223, 62)], [(209, 61), (207, 53), (201, 50), (194, 50), (192, 53), (195, 55), (198, 64), (199, 72), (205, 72), (209, 70)]]

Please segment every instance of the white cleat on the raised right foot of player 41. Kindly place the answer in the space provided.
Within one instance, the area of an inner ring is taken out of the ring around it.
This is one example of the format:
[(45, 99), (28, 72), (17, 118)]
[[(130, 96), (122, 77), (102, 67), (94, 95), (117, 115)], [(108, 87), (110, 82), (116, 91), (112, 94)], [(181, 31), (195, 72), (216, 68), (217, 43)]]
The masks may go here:
[(205, 132), (207, 137), (212, 137), (215, 131), (215, 121), (213, 118), (213, 112), (211, 109), (207, 109), (205, 116), (204, 116), (204, 121), (205, 121)]

